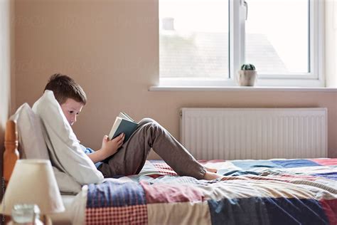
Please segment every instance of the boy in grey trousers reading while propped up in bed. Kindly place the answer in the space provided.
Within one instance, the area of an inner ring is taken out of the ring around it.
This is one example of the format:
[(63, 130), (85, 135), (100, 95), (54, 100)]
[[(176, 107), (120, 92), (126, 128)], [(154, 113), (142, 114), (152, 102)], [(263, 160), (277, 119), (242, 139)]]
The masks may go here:
[[(68, 75), (60, 73), (50, 77), (45, 90), (53, 91), (65, 117), (73, 125), (87, 103), (84, 90)], [(123, 141), (124, 134), (113, 140), (108, 140), (105, 135), (100, 150), (81, 147), (105, 178), (138, 174), (151, 148), (181, 176), (220, 178), (220, 175), (214, 173), (215, 169), (203, 167), (164, 127), (149, 118), (141, 120), (132, 137), (124, 144)]]

